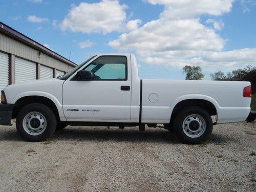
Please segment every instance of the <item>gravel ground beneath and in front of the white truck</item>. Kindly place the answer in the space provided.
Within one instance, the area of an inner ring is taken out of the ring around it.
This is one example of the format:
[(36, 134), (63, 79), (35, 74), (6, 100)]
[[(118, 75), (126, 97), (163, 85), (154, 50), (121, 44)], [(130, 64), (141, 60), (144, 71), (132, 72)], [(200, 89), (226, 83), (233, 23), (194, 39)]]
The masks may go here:
[(255, 191), (255, 125), (216, 125), (200, 145), (148, 127), (68, 126), (25, 142), (0, 126), (0, 190)]

